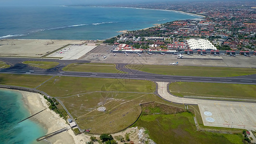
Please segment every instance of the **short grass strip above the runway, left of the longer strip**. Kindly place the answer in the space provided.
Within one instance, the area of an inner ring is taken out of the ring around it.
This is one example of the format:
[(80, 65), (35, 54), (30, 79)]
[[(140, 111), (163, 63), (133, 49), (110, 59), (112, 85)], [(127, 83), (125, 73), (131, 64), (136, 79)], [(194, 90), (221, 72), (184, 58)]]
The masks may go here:
[(69, 72), (107, 72), (120, 73), (111, 63), (72, 63), (64, 67), (63, 71)]

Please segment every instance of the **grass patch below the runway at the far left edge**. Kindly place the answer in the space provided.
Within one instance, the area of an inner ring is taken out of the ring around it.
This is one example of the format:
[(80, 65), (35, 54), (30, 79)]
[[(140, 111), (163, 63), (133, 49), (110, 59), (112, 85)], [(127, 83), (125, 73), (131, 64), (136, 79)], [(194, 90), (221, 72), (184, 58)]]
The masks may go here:
[(0, 74), (0, 84), (35, 88), (52, 76), (27, 74)]

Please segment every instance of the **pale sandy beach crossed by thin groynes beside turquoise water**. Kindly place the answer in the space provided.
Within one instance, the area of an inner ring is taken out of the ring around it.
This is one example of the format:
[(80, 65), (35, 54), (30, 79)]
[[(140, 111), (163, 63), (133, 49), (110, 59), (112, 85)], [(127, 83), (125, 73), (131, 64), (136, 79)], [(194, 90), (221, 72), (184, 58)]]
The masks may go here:
[[(28, 108), (31, 115), (47, 108), (46, 110), (30, 118), (30, 120), (33, 120), (44, 127), (47, 130), (47, 133), (69, 127), (65, 120), (60, 118), (58, 114), (48, 108), (48, 102), (42, 95), (25, 91), (17, 92), (20, 92), (23, 95), (24, 106)], [(69, 129), (67, 132), (61, 132), (46, 140), (43, 140), (43, 142), (50, 144), (83, 144), (88, 141), (88, 136), (83, 133), (75, 136), (71, 129)]]

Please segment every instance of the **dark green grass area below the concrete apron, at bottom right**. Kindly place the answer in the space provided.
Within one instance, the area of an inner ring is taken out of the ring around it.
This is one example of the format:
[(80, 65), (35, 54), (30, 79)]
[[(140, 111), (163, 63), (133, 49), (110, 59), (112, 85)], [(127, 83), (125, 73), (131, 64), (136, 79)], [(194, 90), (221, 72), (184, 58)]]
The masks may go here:
[(193, 115), (144, 115), (134, 126), (144, 127), (157, 144), (243, 144), (242, 134), (196, 131)]

